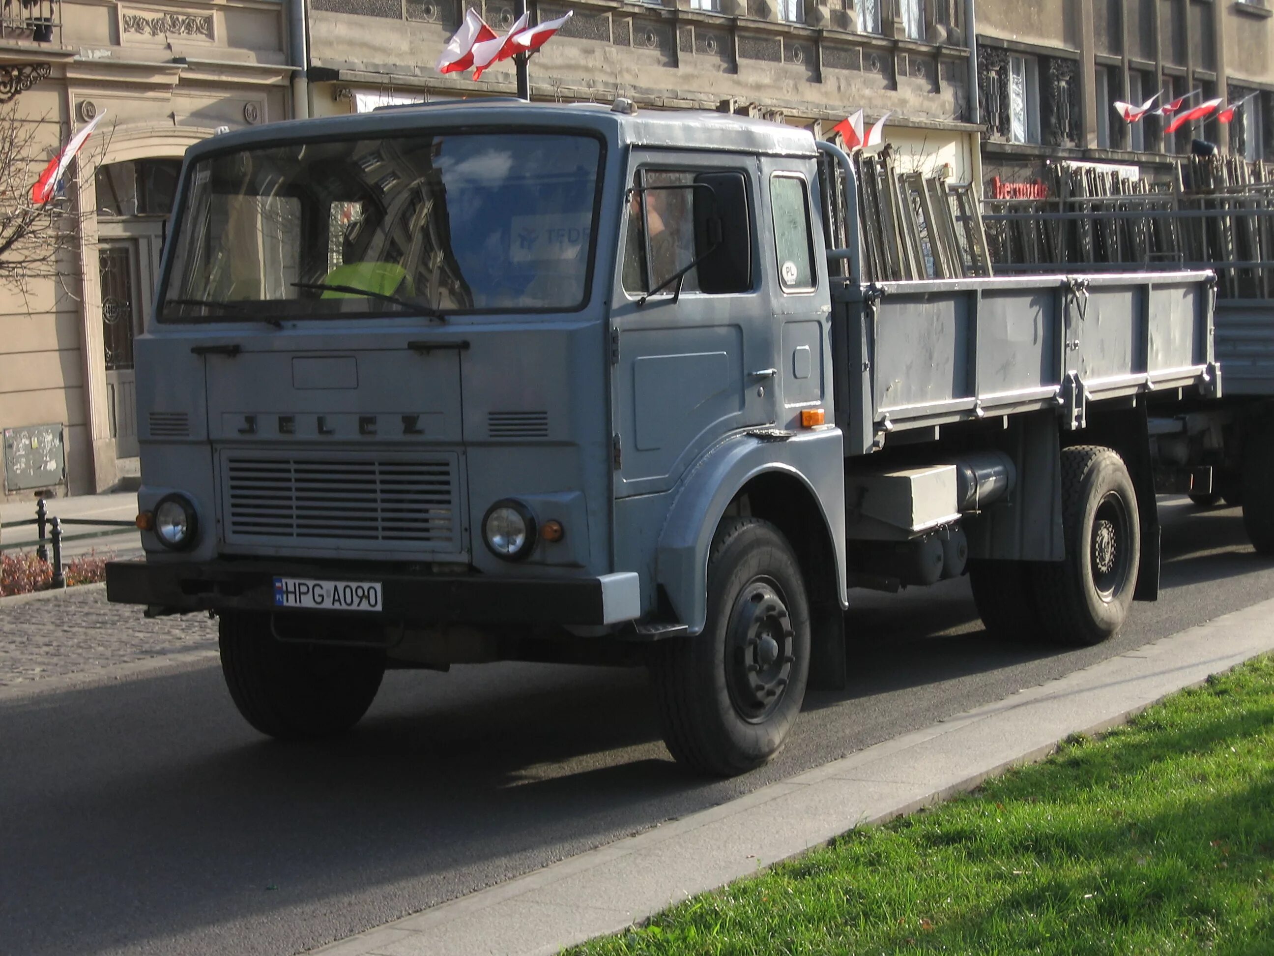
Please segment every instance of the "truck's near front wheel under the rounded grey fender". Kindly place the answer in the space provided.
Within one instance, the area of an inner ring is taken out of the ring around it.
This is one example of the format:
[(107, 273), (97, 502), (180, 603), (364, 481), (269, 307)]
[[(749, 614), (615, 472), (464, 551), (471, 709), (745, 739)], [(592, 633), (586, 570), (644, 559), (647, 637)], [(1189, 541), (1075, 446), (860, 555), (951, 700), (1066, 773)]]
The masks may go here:
[(673, 757), (734, 776), (782, 750), (809, 678), (805, 581), (775, 525), (739, 518), (717, 528), (707, 604), (702, 634), (654, 648), (651, 681)]

